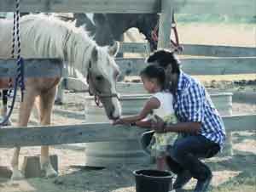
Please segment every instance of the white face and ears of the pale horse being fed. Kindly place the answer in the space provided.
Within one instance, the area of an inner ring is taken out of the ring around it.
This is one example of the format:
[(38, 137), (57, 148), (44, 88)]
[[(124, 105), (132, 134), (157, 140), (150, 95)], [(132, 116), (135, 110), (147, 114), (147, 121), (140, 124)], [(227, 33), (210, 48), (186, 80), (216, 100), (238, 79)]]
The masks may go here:
[(102, 102), (109, 119), (116, 119), (121, 115), (119, 95), (116, 91), (119, 68), (113, 58), (118, 50), (117, 42), (111, 47), (95, 46), (91, 51), (88, 66), (89, 92)]

